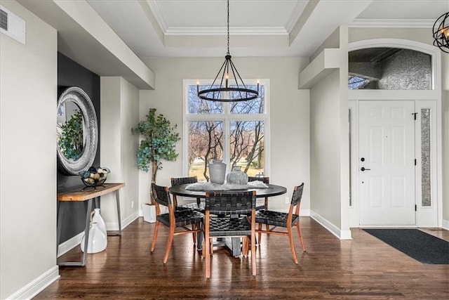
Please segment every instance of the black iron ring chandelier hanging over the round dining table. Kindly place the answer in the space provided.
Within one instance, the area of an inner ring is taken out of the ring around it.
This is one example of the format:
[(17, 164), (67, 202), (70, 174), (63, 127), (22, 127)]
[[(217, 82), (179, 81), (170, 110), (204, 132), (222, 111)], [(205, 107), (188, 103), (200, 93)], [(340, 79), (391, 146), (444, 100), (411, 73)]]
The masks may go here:
[[(221, 79), (218, 82), (217, 79), (220, 78), (220, 75)], [(200, 91), (199, 83), (196, 84), (196, 93), (203, 100), (220, 102), (247, 101), (259, 96), (259, 83), (257, 82), (257, 89), (249, 89), (231, 60), (231, 54), (229, 53), (229, 0), (227, 0), (227, 53), (225, 63), (220, 67), (217, 76), (208, 89)]]

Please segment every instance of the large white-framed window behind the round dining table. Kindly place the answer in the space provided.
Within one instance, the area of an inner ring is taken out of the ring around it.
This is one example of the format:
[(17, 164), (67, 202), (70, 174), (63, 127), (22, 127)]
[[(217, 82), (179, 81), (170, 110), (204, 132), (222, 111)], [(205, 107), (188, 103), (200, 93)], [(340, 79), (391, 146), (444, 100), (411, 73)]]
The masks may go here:
[[(248, 82), (255, 89), (255, 82), (254, 86)], [(213, 159), (225, 162), (227, 172), (241, 167), (248, 176), (265, 174), (269, 81), (260, 80), (258, 98), (230, 103), (198, 98), (193, 80), (185, 80), (184, 86), (184, 153), (188, 176), (208, 181), (208, 164)], [(208, 87), (200, 85), (199, 89)]]

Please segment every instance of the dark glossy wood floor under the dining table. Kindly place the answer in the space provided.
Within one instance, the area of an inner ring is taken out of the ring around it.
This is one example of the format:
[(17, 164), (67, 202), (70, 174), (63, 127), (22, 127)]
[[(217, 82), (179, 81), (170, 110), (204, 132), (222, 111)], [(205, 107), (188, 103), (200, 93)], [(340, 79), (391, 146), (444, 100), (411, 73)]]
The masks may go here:
[[(60, 280), (35, 299), (449, 299), (449, 265), (422, 264), (361, 229), (338, 240), (308, 217), (301, 224), (307, 252), (296, 239), (299, 266), (286, 237), (262, 236), (256, 277), (250, 259), (217, 249), (206, 280), (191, 235), (175, 237), (164, 266), (167, 230), (150, 254), (154, 224), (140, 218), (108, 237), (105, 252), (88, 254), (86, 267), (60, 267)], [(449, 239), (446, 230), (428, 231)], [(60, 259), (80, 255), (76, 247)]]

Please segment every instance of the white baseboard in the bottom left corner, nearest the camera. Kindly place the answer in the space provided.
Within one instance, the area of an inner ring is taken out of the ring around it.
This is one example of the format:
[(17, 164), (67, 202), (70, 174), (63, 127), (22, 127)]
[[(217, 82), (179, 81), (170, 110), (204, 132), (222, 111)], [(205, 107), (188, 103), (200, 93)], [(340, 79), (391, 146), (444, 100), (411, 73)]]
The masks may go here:
[(6, 299), (32, 299), (34, 296), (36, 296), (36, 294), (42, 292), (43, 289), (48, 287), (48, 285), (51, 285), (59, 278), (59, 267), (53, 266), (50, 270), (46, 271), (46, 273), (43, 273), (32, 282), (29, 282), (29, 284), (25, 285), (25, 287), (22, 287), (11, 296), (8, 296), (8, 298)]

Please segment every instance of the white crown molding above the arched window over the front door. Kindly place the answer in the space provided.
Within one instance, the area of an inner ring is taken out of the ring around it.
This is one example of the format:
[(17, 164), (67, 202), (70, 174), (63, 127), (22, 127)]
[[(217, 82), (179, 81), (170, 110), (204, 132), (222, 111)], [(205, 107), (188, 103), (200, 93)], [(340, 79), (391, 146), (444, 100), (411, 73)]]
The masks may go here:
[(435, 20), (355, 19), (349, 27), (432, 28)]

